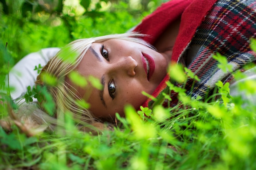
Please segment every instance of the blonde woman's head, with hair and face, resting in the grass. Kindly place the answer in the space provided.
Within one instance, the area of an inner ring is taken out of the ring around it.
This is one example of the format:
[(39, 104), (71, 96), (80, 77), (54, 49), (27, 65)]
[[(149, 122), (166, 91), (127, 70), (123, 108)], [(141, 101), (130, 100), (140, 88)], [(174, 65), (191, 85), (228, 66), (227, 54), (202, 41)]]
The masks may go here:
[[(139, 108), (147, 99), (141, 91), (153, 93), (166, 75), (170, 57), (155, 51), (138, 36), (143, 35), (125, 33), (75, 40), (59, 51), (36, 79), (36, 85), (47, 86), (47, 91), (53, 96), (56, 104), (54, 116), (69, 111), (74, 119), (92, 123), (100, 119), (115, 120), (115, 113), (124, 116), (125, 104)], [(63, 54), (63, 51), (67, 53)], [(151, 67), (153, 72), (147, 70), (149, 54), (155, 63), (155, 71)], [(66, 60), (73, 55), (72, 60)], [(56, 78), (56, 84), (45, 83), (43, 75), (46, 73)], [(84, 78), (80, 81), (93, 76), (102, 87), (94, 88), (90, 80), (79, 86), (72, 82), (72, 73)], [(90, 107), (82, 106), (81, 100), (88, 102)], [(41, 108), (44, 103), (39, 102)]]

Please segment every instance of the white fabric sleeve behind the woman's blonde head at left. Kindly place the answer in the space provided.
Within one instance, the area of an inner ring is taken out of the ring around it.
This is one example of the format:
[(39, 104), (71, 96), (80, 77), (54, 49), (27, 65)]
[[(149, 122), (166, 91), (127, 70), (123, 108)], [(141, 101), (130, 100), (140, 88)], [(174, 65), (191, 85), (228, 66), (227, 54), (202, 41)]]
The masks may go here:
[[(60, 48), (46, 48), (41, 49), (38, 52), (30, 53), (23, 57), (9, 72), (9, 86), (10, 93), (13, 100), (20, 98), (27, 92), (27, 87), (34, 86), (38, 71), (34, 70), (35, 66), (45, 66), (47, 62), (53, 57)], [(5, 78), (5, 84), (7, 86), (7, 76)]]

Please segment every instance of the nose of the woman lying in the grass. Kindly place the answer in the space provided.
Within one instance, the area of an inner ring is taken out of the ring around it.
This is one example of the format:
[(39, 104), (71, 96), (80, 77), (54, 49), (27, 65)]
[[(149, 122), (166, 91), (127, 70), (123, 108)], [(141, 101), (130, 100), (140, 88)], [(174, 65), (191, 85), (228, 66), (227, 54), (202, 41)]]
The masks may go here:
[(135, 68), (137, 67), (137, 62), (131, 57), (121, 57), (117, 62), (110, 64), (110, 71), (123, 72), (129, 76), (135, 76)]

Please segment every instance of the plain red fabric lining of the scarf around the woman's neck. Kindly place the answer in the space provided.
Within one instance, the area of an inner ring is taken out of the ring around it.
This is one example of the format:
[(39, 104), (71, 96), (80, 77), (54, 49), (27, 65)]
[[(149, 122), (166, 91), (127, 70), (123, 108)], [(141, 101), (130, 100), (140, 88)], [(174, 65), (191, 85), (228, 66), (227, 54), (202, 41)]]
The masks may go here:
[[(155, 40), (157, 40), (166, 27), (181, 17), (180, 30), (171, 57), (171, 62), (176, 63), (182, 51), (184, 51), (193, 38), (196, 29), (216, 1), (217, 0), (171, 0), (162, 4), (155, 12), (148, 15), (133, 31), (150, 35), (143, 39), (150, 44), (154, 44)], [(168, 81), (168, 79), (169, 76), (166, 75), (153, 92), (152, 95), (154, 97), (166, 87), (165, 82)], [(148, 107), (148, 102), (150, 102), (150, 99), (146, 100), (142, 106)]]

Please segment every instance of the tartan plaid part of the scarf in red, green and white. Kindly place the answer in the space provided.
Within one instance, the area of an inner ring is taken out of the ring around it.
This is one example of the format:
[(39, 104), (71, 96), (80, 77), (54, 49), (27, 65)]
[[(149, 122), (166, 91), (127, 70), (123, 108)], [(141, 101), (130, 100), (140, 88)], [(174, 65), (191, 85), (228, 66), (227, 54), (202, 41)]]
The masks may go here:
[[(193, 79), (188, 79), (185, 87), (188, 95), (204, 99), (213, 91), (216, 82), (222, 80), (225, 83), (229, 80), (227, 77), (231, 73), (224, 73), (217, 67), (218, 62), (212, 58), (215, 53), (226, 56), (233, 71), (256, 60), (256, 53), (249, 48), (250, 39), (256, 37), (255, 12), (255, 0), (218, 0), (213, 5), (178, 58), (178, 62), (194, 58), (188, 68), (200, 79), (193, 89)], [(176, 95), (171, 95), (171, 106), (177, 104)]]

